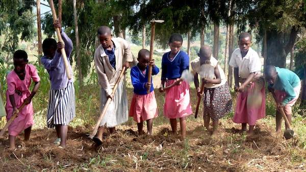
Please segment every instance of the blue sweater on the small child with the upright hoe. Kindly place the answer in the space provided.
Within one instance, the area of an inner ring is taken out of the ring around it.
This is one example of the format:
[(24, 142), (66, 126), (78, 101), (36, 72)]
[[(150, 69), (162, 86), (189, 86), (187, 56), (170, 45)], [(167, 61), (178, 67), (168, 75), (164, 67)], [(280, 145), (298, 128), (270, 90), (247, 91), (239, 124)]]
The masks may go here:
[[(148, 82), (148, 69), (149, 69), (149, 66), (147, 66), (147, 68), (144, 70), (145, 72), (143, 72), (139, 69), (137, 65), (132, 67), (131, 79), (132, 79), (132, 84), (134, 87), (135, 94), (139, 94), (139, 95), (147, 94), (145, 83)], [(152, 68), (152, 76), (157, 75), (158, 72), (159, 72), (159, 68), (156, 65), (154, 65), (154, 67)], [(151, 82), (150, 92), (152, 92), (153, 90), (154, 90), (153, 82)]]

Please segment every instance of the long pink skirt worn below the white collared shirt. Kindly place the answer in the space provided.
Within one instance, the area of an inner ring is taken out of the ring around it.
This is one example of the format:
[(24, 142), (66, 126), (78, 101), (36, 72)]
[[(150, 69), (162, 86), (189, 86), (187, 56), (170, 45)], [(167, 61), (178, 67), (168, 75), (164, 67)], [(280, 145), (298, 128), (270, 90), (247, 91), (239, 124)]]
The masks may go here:
[(245, 91), (239, 93), (233, 121), (254, 126), (256, 121), (265, 115), (265, 81), (263, 78), (258, 78), (253, 80)]

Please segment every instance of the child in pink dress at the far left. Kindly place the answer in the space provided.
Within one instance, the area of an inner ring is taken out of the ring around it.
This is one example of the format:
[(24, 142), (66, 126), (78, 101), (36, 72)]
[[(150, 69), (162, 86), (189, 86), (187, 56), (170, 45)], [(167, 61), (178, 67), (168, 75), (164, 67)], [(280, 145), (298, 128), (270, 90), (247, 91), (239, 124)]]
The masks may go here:
[[(36, 94), (40, 78), (35, 66), (28, 64), (28, 55), (23, 50), (17, 50), (14, 53), (14, 70), (7, 76), (8, 90), (6, 92), (7, 104), (7, 120), (9, 120), (14, 113), (18, 116), (13, 120), (9, 126), (10, 149), (15, 149), (16, 136), (24, 130), (24, 141), (28, 141), (31, 134), (33, 122), (33, 105), (32, 98)], [(34, 88), (30, 92), (31, 79), (33, 80)], [(25, 104), (22, 110), (18, 108)]]

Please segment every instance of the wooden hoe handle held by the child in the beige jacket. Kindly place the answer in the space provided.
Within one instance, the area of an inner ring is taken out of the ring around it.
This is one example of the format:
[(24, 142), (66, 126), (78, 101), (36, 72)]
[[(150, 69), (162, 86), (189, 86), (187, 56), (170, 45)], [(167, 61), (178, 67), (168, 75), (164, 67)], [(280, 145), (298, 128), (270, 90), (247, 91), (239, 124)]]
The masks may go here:
[[(121, 78), (122, 78), (124, 72), (125, 72), (125, 66), (122, 67), (122, 70), (121, 70), (121, 72), (120, 72), (120, 75), (119, 75), (119, 77), (118, 77), (117, 80), (116, 80), (115, 86), (114, 86), (114, 88), (113, 88), (112, 96), (115, 95), (116, 89), (117, 89), (117, 87), (118, 87), (118, 84), (119, 84), (119, 82), (120, 82), (120, 80), (121, 80)], [(110, 105), (111, 102), (112, 102), (112, 99), (111, 99), (111, 98), (108, 98), (106, 104), (104, 105), (104, 108), (103, 108), (102, 112), (100, 113), (100, 116), (99, 116), (99, 118), (98, 118), (98, 120), (97, 120), (97, 123), (96, 123), (96, 125), (94, 126), (94, 129), (93, 129), (92, 133), (88, 136), (89, 138), (92, 139), (92, 138), (95, 136), (95, 134), (97, 133), (97, 131), (98, 131), (98, 129), (99, 129), (99, 126), (100, 126), (100, 123), (101, 123), (101, 120), (103, 119), (103, 117), (104, 117), (104, 115), (105, 115), (105, 113), (106, 113), (106, 111), (107, 111), (107, 108), (108, 108), (108, 106)]]

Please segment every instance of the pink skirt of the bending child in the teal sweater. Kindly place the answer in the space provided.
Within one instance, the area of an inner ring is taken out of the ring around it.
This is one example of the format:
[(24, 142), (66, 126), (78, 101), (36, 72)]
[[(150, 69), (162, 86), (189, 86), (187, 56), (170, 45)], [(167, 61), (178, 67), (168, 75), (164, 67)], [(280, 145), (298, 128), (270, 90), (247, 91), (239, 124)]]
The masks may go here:
[[(296, 86), (293, 89), (294, 89), (294, 92), (295, 92), (295, 97), (292, 101), (288, 102), (288, 104), (286, 104), (286, 106), (284, 107), (284, 111), (285, 111), (286, 114), (292, 114), (292, 106), (295, 104), (295, 102), (298, 99), (299, 92), (301, 90), (301, 84), (299, 84), (298, 86)], [(275, 90), (274, 93), (276, 95), (276, 101), (277, 102), (283, 102), (283, 100), (286, 97), (286, 92), (281, 91), (281, 90)]]

